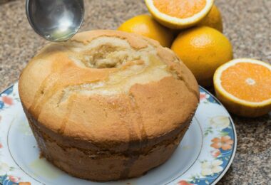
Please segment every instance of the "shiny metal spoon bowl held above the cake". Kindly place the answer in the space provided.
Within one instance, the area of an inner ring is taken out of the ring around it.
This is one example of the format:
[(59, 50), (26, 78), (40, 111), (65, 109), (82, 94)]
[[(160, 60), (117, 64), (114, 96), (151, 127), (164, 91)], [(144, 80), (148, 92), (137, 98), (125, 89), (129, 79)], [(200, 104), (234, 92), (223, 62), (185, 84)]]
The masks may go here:
[(83, 0), (26, 0), (26, 16), (34, 31), (48, 41), (66, 41), (83, 23)]

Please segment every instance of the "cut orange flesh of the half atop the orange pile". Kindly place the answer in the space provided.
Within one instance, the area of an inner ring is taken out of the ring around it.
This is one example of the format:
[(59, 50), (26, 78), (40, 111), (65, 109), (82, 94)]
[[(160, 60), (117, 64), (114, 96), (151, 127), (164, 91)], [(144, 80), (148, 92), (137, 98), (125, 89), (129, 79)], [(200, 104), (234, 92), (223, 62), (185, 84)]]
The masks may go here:
[(188, 18), (202, 11), (206, 0), (153, 0), (153, 5), (168, 16)]

